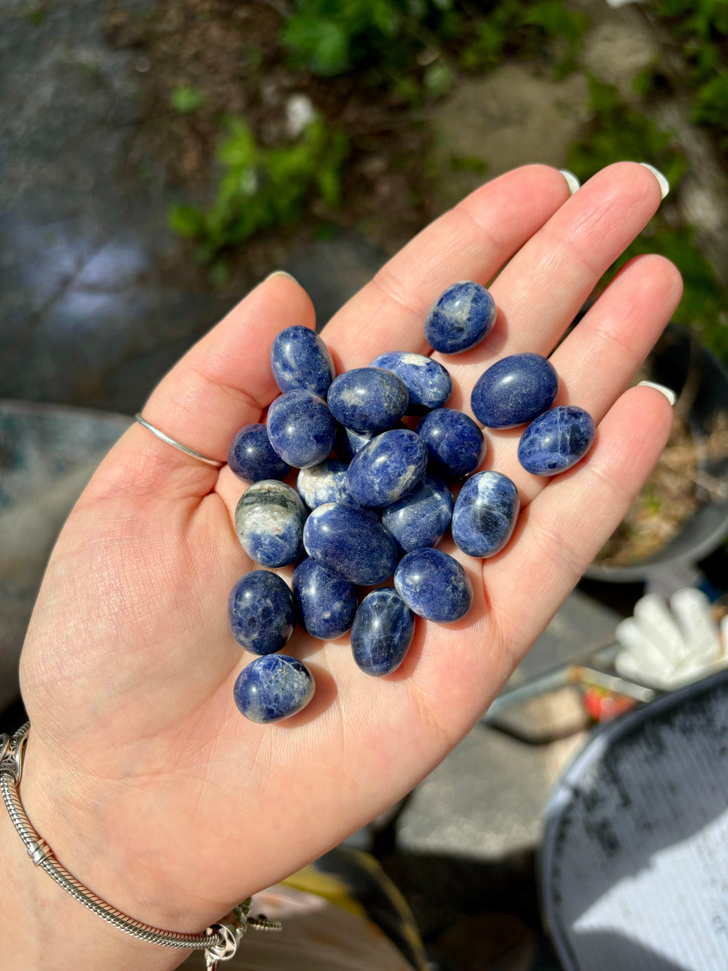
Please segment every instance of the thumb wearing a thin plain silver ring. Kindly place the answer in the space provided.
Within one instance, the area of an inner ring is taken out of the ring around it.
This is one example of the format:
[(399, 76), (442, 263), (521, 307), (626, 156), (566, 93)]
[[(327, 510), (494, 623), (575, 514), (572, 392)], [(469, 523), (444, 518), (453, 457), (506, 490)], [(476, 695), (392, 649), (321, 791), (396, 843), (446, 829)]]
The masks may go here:
[[(271, 342), (292, 324), (314, 327), (313, 304), (291, 277), (270, 277), (162, 379), (144, 407), (145, 419), (195, 452), (224, 462), (235, 432), (260, 420), (279, 393)], [(199, 496), (210, 491), (217, 474), (135, 424), (102, 465), (93, 489)]]

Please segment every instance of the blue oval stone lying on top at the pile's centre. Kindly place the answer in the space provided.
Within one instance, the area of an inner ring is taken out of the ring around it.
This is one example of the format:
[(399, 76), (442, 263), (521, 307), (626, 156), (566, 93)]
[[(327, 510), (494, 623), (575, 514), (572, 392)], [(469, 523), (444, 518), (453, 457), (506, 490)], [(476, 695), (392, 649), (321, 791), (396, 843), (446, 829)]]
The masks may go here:
[(427, 467), (427, 448), (409, 428), (384, 431), (356, 452), (348, 490), (362, 506), (388, 506), (409, 492)]

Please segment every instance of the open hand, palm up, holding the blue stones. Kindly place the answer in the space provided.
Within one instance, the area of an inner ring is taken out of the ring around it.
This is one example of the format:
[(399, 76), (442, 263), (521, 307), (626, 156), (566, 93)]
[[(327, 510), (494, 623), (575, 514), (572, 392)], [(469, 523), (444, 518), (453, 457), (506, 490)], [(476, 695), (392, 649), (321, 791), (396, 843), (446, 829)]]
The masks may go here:
[[(323, 644), (298, 629), (285, 653), (310, 665), (316, 694), (290, 721), (254, 724), (232, 698), (251, 659), (226, 615), (251, 565), (232, 521), (244, 486), (139, 425), (123, 436), (58, 540), (20, 665), (32, 721), (21, 794), (75, 876), (133, 917), (198, 931), (394, 803), (480, 718), (667, 440), (665, 397), (625, 388), (678, 304), (671, 263), (632, 260), (556, 347), (659, 202), (654, 177), (633, 163), (572, 198), (555, 170), (519, 169), (425, 229), (328, 324), (338, 373), (383, 351), (427, 353), (422, 323), (440, 292), (500, 273), (493, 333), (440, 358), (455, 383), (448, 405), (468, 411), (494, 359), (552, 352), (557, 404), (587, 409), (599, 431), (586, 459), (551, 481), (518, 465), (520, 429), (488, 432), (484, 467), (513, 479), (523, 511), (500, 555), (457, 552), (471, 613), (450, 626), (418, 619), (404, 664), (383, 680), (359, 671), (347, 638)], [(278, 393), (270, 345), (294, 323), (314, 326), (304, 290), (284, 276), (259, 285), (162, 381), (145, 417), (224, 459)], [(61, 893), (39, 876), (44, 892)], [(67, 917), (81, 911), (70, 908)], [(181, 955), (157, 959), (174, 966)]]

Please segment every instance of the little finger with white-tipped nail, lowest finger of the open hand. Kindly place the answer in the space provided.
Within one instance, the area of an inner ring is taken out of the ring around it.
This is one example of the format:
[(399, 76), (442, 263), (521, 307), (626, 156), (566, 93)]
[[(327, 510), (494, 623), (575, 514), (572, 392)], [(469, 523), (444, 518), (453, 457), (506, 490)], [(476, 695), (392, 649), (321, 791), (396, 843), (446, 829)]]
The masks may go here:
[(528, 507), (513, 544), (483, 563), (491, 617), (517, 663), (639, 493), (667, 443), (673, 411), (649, 387), (633, 387), (599, 425), (579, 465), (552, 479)]

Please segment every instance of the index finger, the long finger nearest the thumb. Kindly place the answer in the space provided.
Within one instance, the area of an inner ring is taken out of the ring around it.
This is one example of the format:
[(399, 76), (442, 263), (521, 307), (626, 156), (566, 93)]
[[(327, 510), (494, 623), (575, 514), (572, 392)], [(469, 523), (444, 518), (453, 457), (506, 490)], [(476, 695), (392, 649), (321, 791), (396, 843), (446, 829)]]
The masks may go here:
[(566, 180), (546, 165), (482, 185), (390, 259), (326, 325), (324, 340), (346, 369), (382, 351), (430, 352), (424, 318), (443, 290), (457, 280), (487, 284), (568, 198)]

